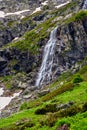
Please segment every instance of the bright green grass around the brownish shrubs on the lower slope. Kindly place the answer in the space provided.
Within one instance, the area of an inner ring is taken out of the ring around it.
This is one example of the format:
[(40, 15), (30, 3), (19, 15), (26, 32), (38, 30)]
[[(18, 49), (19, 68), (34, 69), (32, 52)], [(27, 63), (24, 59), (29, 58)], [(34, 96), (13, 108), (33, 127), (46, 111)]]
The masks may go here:
[[(61, 94), (57, 94), (55, 97), (47, 100), (46, 102), (43, 102), (42, 99), (44, 99), (44, 97), (46, 97), (47, 95), (40, 98), (39, 101), (41, 103), (39, 106), (33, 106), (31, 109), (26, 109), (26, 110), (20, 111), (19, 113), (14, 114), (11, 117), (0, 120), (0, 128), (4, 128), (4, 130), (16, 130), (15, 125), (14, 125), (14, 124), (16, 124), (16, 122), (20, 122), (20, 121), (26, 120), (26, 119), (32, 119), (34, 126), (26, 127), (24, 130), (49, 130), (49, 129), (56, 130), (56, 128), (58, 126), (60, 126), (61, 124), (64, 124), (64, 123), (70, 124), (71, 130), (86, 130), (87, 129), (87, 111), (84, 113), (83, 112), (77, 113), (76, 115), (72, 115), (70, 117), (69, 116), (57, 117), (56, 122), (53, 124), (53, 127), (51, 127), (51, 128), (49, 126), (49, 123), (46, 124), (46, 121), (49, 122), (49, 120), (48, 120), (49, 113), (44, 114), (44, 115), (35, 114), (35, 111), (37, 109), (45, 107), (47, 104), (53, 104), (53, 103), (61, 104), (61, 103), (67, 103), (69, 101), (73, 101), (76, 106), (82, 107), (82, 105), (87, 101), (87, 80), (85, 77), (85, 76), (87, 76), (86, 69), (87, 69), (87, 66), (84, 67), (80, 71), (84, 81), (81, 82), (79, 85), (74, 85), (74, 87), (71, 90), (61, 92)], [(65, 86), (66, 86), (66, 84), (65, 84)], [(55, 87), (55, 86), (53, 86), (53, 87)], [(58, 89), (61, 89), (61, 88), (62, 87), (59, 87)], [(37, 100), (36, 100), (36, 103), (38, 104)], [(30, 103), (28, 105), (30, 106)], [(56, 112), (54, 112), (54, 113), (56, 114)], [(53, 113), (51, 113), (51, 114), (53, 114)], [(50, 120), (52, 120), (52, 118), (53, 117), (51, 117)], [(43, 125), (41, 123), (41, 120), (44, 122)], [(22, 125), (24, 125), (24, 124), (25, 124), (25, 122)], [(19, 125), (20, 128), (22, 127), (22, 125)], [(20, 128), (17, 127), (17, 130), (21, 130)]]

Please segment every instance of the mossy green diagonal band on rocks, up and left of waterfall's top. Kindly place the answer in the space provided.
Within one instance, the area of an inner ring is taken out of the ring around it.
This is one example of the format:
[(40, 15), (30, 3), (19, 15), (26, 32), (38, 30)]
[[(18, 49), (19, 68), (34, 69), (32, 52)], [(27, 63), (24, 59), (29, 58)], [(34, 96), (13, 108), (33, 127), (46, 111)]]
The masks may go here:
[[(35, 21), (33, 20), (34, 17), (39, 16), (42, 12), (37, 12), (35, 14), (32, 14), (26, 18), (23, 18), (21, 20), (22, 24), (29, 23), (31, 26), (35, 25), (36, 27), (28, 32), (26, 32), (18, 41), (13, 41), (3, 47), (5, 48), (18, 48), (21, 51), (29, 50), (29, 52), (33, 54), (37, 54), (39, 52), (39, 44), (41, 41), (48, 38), (50, 31), (55, 27), (58, 26), (59, 22), (56, 21), (55, 18), (58, 18), (58, 16), (63, 16), (63, 13), (67, 13), (67, 10), (71, 10), (72, 7), (75, 7), (77, 5), (77, 2), (71, 2), (67, 4), (66, 6), (55, 9), (51, 12), (45, 12), (45, 14), (49, 14), (49, 19), (43, 21), (41, 24), (38, 24), (36, 26)], [(19, 22), (19, 23), (18, 23)], [(20, 24), (20, 21), (10, 21), (8, 23), (8, 26), (14, 26), (16, 24)], [(16, 27), (16, 26), (15, 26)], [(12, 27), (14, 28), (14, 27)]]

